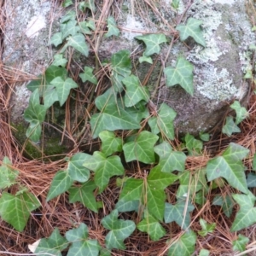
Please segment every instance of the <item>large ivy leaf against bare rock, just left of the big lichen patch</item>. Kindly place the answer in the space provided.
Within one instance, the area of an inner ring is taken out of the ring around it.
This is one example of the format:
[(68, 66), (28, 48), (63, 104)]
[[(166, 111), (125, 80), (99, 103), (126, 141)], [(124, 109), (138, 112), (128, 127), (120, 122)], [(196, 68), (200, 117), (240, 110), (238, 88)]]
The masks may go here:
[(191, 96), (194, 93), (193, 85), (193, 65), (184, 59), (179, 57), (177, 59), (176, 67), (166, 67), (166, 85), (173, 86), (179, 84), (186, 90)]

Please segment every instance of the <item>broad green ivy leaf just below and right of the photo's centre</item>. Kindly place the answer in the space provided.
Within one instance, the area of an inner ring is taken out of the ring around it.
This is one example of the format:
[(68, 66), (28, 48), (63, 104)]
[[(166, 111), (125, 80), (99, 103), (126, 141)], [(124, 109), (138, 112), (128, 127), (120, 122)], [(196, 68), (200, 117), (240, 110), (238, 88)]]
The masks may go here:
[(158, 138), (149, 131), (142, 131), (134, 142), (125, 143), (123, 150), (126, 162), (138, 160), (145, 164), (154, 163), (154, 144)]

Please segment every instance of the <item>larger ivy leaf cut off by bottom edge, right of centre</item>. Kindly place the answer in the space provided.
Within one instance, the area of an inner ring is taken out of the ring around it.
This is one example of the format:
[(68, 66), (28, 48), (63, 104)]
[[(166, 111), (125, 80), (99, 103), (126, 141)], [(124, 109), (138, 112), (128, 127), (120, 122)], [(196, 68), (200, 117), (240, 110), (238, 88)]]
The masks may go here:
[(189, 230), (172, 243), (168, 250), (168, 256), (190, 256), (195, 252), (196, 235)]

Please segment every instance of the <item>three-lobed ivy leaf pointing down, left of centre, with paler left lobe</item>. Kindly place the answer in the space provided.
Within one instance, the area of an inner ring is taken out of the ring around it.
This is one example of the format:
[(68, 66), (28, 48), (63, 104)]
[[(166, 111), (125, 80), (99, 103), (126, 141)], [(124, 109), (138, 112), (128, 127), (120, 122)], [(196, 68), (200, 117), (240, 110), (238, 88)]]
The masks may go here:
[(85, 161), (84, 166), (95, 172), (94, 179), (100, 193), (107, 187), (110, 177), (123, 175), (125, 172), (118, 155), (106, 158), (98, 151), (95, 151), (90, 159)]

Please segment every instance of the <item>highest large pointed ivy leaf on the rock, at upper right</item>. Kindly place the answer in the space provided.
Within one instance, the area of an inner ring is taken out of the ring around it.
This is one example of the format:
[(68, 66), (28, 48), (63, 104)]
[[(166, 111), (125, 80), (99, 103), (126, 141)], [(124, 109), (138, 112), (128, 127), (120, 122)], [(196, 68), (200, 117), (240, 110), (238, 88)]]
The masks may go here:
[(191, 37), (194, 38), (195, 42), (201, 44), (206, 47), (206, 41), (203, 37), (203, 33), (201, 32), (201, 24), (203, 22), (201, 20), (196, 20), (194, 18), (189, 18), (186, 25), (179, 24), (176, 29), (179, 31), (180, 39), (182, 41)]

